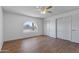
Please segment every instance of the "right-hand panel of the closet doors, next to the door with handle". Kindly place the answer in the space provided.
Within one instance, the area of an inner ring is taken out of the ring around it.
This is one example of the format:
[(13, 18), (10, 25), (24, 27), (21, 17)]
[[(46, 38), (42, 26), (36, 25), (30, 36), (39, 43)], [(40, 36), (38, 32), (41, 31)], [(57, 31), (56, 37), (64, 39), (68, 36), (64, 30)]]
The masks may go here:
[(63, 29), (63, 39), (71, 40), (71, 16), (64, 17)]

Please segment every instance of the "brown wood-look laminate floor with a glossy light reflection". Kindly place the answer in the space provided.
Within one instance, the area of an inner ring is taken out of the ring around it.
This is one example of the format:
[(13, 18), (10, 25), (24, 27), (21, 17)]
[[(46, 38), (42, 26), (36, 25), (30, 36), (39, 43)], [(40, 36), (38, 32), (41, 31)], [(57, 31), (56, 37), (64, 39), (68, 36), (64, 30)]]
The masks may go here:
[(79, 44), (48, 36), (4, 42), (2, 50), (15, 53), (78, 53)]

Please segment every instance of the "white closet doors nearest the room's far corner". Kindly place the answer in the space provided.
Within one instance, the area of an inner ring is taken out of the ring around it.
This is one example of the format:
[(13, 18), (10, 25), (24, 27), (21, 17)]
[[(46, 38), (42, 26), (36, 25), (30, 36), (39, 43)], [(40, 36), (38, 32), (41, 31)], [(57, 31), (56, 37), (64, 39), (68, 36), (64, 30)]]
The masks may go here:
[(56, 20), (50, 18), (44, 20), (44, 35), (56, 38)]

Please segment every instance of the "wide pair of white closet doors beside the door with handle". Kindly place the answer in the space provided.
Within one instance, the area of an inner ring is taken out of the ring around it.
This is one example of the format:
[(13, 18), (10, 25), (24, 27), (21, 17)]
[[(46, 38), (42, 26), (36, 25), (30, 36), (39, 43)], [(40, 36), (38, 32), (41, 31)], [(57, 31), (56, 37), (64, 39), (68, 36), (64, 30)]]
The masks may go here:
[(71, 40), (71, 17), (57, 19), (57, 38)]

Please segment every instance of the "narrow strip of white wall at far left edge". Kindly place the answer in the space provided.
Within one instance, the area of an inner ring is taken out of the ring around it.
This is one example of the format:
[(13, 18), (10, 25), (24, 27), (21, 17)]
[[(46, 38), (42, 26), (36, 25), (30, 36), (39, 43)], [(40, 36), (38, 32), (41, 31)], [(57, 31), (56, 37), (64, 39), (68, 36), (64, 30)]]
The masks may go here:
[(3, 12), (2, 7), (0, 6), (0, 50), (3, 45)]

